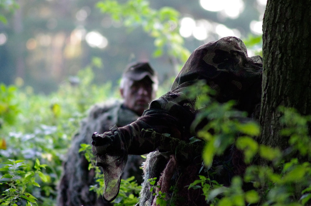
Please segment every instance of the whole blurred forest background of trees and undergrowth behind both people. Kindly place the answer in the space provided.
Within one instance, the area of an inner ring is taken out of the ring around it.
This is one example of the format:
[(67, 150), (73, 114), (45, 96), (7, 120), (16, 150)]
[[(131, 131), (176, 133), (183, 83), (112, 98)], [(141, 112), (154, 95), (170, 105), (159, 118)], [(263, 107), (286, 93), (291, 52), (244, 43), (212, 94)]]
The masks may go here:
[[(204, 43), (236, 36), (249, 56), (261, 54), (266, 2), (218, 2), (1, 1), (1, 204), (55, 204), (72, 135), (92, 104), (119, 98), (118, 79), (129, 62), (151, 62), (159, 73), (160, 96), (190, 53)], [(257, 126), (246, 130), (258, 134)], [(265, 151), (271, 154), (267, 159), (279, 156), (278, 150)], [(221, 188), (212, 185), (209, 189)], [(258, 202), (258, 192), (243, 193), (243, 201), (241, 194), (229, 195), (232, 205)], [(122, 201), (128, 198), (133, 196)], [(310, 195), (301, 198), (305, 204)]]

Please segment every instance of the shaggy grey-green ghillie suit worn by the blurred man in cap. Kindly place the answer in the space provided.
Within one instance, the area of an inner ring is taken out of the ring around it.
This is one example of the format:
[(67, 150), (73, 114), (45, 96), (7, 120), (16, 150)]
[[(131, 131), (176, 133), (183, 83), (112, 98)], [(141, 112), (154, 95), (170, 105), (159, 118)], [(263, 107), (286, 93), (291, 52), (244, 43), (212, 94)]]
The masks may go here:
[[(104, 105), (94, 105), (86, 119), (82, 120), (81, 128), (72, 139), (72, 146), (68, 150), (67, 160), (63, 165), (63, 174), (58, 185), (58, 206), (103, 206), (111, 205), (104, 201), (102, 197), (97, 198), (94, 191), (89, 191), (91, 185), (95, 185), (95, 171), (88, 170), (88, 161), (83, 153), (79, 153), (81, 144), (90, 144), (91, 135), (95, 132), (109, 131), (109, 127), (114, 125), (122, 127), (134, 122), (139, 116), (124, 108), (121, 102), (105, 103)], [(130, 157), (125, 168), (128, 178), (135, 175), (138, 182), (142, 182), (142, 170), (139, 169), (143, 159), (140, 156)], [(134, 166), (133, 166), (134, 165)]]

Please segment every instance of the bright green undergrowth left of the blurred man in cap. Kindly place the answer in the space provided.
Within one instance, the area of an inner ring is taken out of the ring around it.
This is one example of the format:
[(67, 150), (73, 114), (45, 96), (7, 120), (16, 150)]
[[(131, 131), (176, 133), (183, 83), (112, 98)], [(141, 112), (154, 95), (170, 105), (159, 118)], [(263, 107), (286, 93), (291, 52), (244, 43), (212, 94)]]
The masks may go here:
[(98, 66), (95, 58), (75, 81), (64, 82), (48, 96), (34, 94), (30, 87), (0, 86), (0, 162), (12, 164), (0, 169), (3, 205), (55, 204), (62, 162), (81, 118), (91, 105), (113, 96), (111, 83), (93, 84)]

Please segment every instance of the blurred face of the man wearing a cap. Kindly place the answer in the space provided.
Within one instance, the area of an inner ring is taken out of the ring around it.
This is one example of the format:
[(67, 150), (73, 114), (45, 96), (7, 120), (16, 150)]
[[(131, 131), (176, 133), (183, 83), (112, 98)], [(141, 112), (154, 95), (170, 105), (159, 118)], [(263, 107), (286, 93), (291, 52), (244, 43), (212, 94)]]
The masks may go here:
[(155, 91), (152, 88), (152, 81), (145, 77), (142, 80), (134, 81), (127, 79), (124, 88), (120, 89), (124, 99), (124, 106), (142, 115), (148, 109), (149, 103), (155, 98)]

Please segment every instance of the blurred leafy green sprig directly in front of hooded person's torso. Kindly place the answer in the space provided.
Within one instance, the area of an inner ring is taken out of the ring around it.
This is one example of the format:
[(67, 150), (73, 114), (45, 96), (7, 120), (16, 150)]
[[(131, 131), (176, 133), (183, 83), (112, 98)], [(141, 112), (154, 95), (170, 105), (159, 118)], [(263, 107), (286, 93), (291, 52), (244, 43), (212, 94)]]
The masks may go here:
[[(196, 100), (199, 110), (192, 127), (196, 127), (204, 119), (207, 120), (207, 124), (197, 133), (199, 138), (206, 141), (202, 156), (207, 166), (212, 164), (215, 155), (221, 155), (241, 134), (244, 137), (243, 139), (240, 137), (239, 146), (251, 154), (251, 149), (257, 150), (255, 144), (251, 146), (243, 144), (260, 133), (258, 123), (246, 118), (245, 113), (233, 110), (234, 101), (220, 104), (209, 96), (214, 93), (204, 82), (197, 83), (186, 92), (187, 96)], [(251, 157), (248, 158), (250, 161)]]

